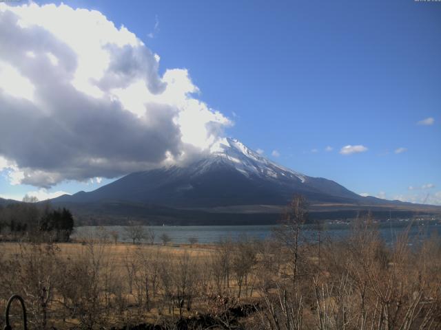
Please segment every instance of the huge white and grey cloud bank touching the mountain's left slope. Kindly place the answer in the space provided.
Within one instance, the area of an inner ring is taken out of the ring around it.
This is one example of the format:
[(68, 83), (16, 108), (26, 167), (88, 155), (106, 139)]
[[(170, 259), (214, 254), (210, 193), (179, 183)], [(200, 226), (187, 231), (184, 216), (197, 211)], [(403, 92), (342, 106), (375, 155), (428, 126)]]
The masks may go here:
[(16, 184), (184, 162), (232, 124), (101, 12), (0, 3), (0, 50), (0, 167)]

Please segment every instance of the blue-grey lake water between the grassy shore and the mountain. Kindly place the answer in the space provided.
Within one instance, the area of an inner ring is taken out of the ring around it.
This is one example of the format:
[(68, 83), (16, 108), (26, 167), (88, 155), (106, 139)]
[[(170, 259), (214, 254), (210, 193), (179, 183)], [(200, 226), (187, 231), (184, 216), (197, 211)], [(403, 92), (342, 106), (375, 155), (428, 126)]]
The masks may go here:
[[(409, 223), (406, 221), (397, 223), (380, 223), (378, 224), (380, 234), (387, 243), (396, 241), (396, 237), (406, 230)], [(163, 233), (169, 235), (172, 239), (171, 243), (181, 244), (188, 243), (189, 238), (196, 237), (199, 243), (216, 243), (223, 239), (240, 239), (246, 236), (249, 239), (265, 239), (273, 234), (275, 225), (188, 225), (188, 226), (159, 226), (152, 225), (155, 233), (155, 243), (161, 243), (160, 236)], [(147, 227), (145, 227), (147, 228)], [(73, 238), (76, 239), (97, 239), (100, 236), (110, 236), (110, 232), (118, 232), (118, 240), (121, 242), (130, 242), (127, 237), (124, 226), (84, 226), (75, 229)], [(312, 225), (305, 225), (302, 233), (307, 239), (314, 241), (317, 237), (317, 231)], [(325, 224), (323, 230), (320, 231), (320, 240), (324, 239), (344, 239), (351, 234), (351, 225), (347, 224)], [(441, 234), (441, 224), (433, 221), (418, 221), (413, 223), (409, 230), (411, 239), (421, 241), (432, 234)], [(110, 236), (111, 237), (111, 236)], [(111, 239), (111, 238), (110, 238)]]

